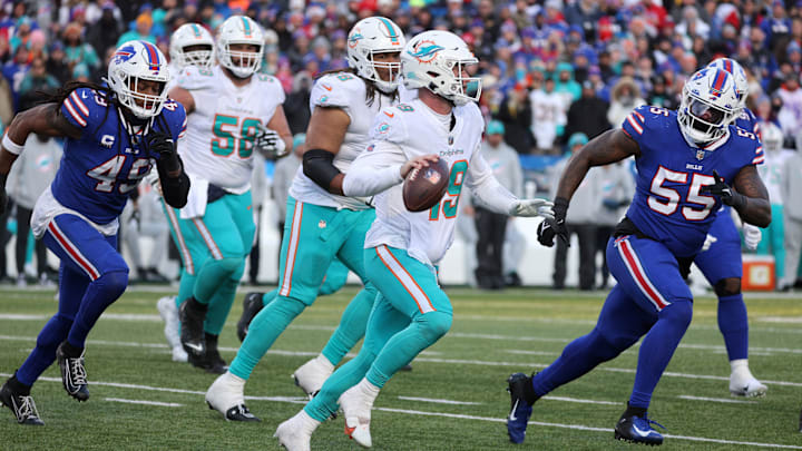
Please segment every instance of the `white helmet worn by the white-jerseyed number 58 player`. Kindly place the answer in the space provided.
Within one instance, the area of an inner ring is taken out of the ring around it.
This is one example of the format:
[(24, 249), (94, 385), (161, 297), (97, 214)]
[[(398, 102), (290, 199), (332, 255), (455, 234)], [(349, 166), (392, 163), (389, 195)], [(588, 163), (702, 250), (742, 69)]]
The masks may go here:
[[(257, 51), (236, 51), (231, 46), (248, 43), (256, 46)], [(232, 16), (226, 19), (217, 31), (217, 62), (239, 78), (256, 73), (262, 66), (264, 53), (264, 33), (262, 27), (247, 16)], [(235, 65), (232, 57), (239, 60)]]

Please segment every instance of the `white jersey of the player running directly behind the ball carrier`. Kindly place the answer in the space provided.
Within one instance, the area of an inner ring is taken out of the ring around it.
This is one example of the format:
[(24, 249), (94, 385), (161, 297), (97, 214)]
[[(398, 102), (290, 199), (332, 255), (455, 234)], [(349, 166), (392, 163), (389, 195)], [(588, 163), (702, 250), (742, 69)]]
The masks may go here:
[[(345, 138), (333, 161), (334, 167), (345, 174), (351, 167), (351, 161), (368, 147), (373, 118), (381, 108), (395, 104), (393, 98), (380, 90), (375, 91), (373, 101), (368, 101), (365, 84), (366, 81), (350, 72), (330, 73), (315, 81), (310, 95), (310, 109), (313, 112), (316, 107), (341, 108), (351, 118)], [(324, 190), (304, 175), (303, 166), (299, 167), (295, 174), (290, 195), (303, 203), (324, 207), (369, 208), (366, 199), (338, 196)]]

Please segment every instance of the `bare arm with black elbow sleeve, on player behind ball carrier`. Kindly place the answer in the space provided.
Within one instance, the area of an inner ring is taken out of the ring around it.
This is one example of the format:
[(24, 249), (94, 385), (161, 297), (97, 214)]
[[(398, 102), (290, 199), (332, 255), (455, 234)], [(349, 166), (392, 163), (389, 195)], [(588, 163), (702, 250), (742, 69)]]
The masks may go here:
[(334, 167), (334, 155), (345, 139), (351, 117), (342, 108), (316, 107), (306, 128), (304, 175), (332, 194), (343, 195), (344, 175)]

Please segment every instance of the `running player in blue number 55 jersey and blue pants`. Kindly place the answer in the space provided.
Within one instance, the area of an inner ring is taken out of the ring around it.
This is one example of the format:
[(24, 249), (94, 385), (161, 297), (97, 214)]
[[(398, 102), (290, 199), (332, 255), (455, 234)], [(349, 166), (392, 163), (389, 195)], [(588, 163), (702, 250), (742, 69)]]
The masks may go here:
[(620, 129), (598, 136), (569, 161), (557, 190), (555, 219), (538, 226), (538, 239), (548, 246), (556, 236), (567, 239), (568, 204), (587, 170), (635, 157), (635, 197), (607, 245), (607, 264), (618, 284), (589, 334), (568, 344), (540, 373), (509, 378), (507, 430), (512, 442), (524, 441), (535, 401), (644, 336), (635, 384), (615, 438), (663, 443), (646, 412), (692, 318), (693, 297), (678, 259), (700, 252), (722, 204), (735, 208), (746, 223), (766, 227), (771, 222), (769, 195), (755, 168), (760, 141), (732, 126), (740, 112), (732, 78), (715, 68), (697, 71), (685, 84), (677, 111), (638, 107)]

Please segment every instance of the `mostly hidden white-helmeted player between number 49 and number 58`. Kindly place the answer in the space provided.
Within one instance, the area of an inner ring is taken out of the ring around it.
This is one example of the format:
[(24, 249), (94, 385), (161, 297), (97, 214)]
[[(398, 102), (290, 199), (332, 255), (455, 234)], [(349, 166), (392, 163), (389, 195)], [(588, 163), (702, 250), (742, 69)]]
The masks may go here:
[[(187, 66), (196, 66), (198, 68), (209, 69), (214, 63), (214, 39), (212, 35), (199, 23), (184, 23), (178, 27), (177, 30), (170, 36), (169, 45), (169, 70), (170, 81), (167, 84), (167, 91), (169, 92), (176, 84), (177, 76)], [(184, 145), (185, 140), (180, 140), (178, 146)], [(156, 193), (160, 192), (158, 186), (158, 178), (148, 175), (146, 182), (149, 182), (156, 188)], [(160, 197), (160, 196), (159, 196)], [(167, 222), (170, 226), (170, 234), (176, 243), (179, 242), (178, 234), (178, 218), (175, 210), (162, 199), (162, 207), (167, 216)], [(158, 300), (156, 307), (158, 308), (162, 320), (165, 322), (165, 337), (167, 344), (173, 350), (173, 361), (186, 362), (188, 355), (180, 344), (180, 323), (178, 322), (178, 305), (180, 305), (187, 297), (192, 295), (195, 286), (195, 274), (189, 274), (186, 271), (186, 266), (182, 267), (180, 275), (180, 290), (178, 296), (164, 296)]]

